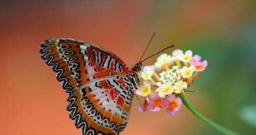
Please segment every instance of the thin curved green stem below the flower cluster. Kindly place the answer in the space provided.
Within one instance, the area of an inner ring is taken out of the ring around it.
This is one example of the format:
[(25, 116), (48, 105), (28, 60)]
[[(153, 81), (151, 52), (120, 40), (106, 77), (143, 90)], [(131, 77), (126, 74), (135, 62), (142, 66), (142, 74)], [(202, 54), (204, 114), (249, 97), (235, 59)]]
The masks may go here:
[(208, 125), (212, 126), (213, 128), (219, 130), (220, 132), (222, 132), (223, 134), (227, 134), (227, 135), (237, 135), (237, 133), (215, 123), (214, 121), (206, 118), (204, 115), (202, 115), (199, 111), (197, 111), (189, 102), (188, 100), (182, 96), (179, 95), (183, 101), (183, 103), (186, 105), (186, 107), (199, 119), (203, 120), (204, 122), (206, 122)]

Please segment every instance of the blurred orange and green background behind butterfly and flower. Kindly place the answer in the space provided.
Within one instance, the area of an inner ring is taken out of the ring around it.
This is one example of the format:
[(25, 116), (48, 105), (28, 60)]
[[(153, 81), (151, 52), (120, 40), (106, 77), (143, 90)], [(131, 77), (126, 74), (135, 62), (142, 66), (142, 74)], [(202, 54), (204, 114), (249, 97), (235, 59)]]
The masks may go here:
[[(175, 44), (207, 59), (190, 87), (197, 92), (186, 94), (191, 104), (227, 128), (255, 134), (255, 7), (255, 0), (0, 0), (0, 134), (81, 134), (69, 119), (68, 95), (39, 55), (42, 41), (86, 40), (131, 67), (153, 31), (146, 56)], [(184, 105), (172, 116), (137, 105), (121, 134), (220, 134)]]

